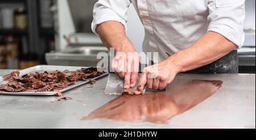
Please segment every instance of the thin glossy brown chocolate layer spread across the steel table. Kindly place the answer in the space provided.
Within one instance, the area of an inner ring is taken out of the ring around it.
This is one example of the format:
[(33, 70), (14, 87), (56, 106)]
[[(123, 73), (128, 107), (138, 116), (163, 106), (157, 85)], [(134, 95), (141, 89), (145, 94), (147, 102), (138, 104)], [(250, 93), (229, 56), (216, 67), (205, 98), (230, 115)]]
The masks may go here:
[(115, 121), (164, 124), (175, 115), (188, 111), (213, 95), (221, 84), (219, 80), (177, 79), (163, 92), (119, 96), (82, 120), (108, 118)]

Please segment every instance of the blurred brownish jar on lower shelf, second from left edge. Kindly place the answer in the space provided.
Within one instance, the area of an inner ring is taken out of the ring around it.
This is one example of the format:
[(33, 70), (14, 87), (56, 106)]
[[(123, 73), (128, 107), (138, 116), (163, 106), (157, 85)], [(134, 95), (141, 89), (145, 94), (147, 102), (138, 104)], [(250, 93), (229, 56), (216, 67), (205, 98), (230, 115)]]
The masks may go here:
[(5, 39), (7, 49), (7, 69), (18, 69), (18, 40), (9, 35)]

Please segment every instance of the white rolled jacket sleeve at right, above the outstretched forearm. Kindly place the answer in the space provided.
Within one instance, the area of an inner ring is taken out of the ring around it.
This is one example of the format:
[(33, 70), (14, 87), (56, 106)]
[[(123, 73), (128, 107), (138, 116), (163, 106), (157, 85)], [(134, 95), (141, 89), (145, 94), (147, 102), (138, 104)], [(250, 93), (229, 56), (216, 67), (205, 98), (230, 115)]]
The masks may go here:
[(208, 31), (220, 33), (241, 47), (245, 41), (245, 0), (208, 0)]

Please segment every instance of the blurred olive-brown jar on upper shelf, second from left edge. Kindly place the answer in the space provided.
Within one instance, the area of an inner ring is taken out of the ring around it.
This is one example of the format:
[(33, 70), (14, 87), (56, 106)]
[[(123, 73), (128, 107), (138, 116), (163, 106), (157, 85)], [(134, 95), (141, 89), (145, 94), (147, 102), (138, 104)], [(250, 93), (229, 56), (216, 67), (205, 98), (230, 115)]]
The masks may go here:
[(27, 10), (17, 9), (14, 11), (15, 28), (24, 30), (27, 29)]

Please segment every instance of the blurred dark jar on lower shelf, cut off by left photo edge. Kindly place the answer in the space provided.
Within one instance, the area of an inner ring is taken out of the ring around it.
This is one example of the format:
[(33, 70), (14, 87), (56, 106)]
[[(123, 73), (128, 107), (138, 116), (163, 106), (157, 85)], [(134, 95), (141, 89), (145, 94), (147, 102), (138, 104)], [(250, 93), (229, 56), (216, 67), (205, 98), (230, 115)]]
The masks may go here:
[(0, 69), (7, 69), (6, 55), (6, 44), (3, 40), (0, 40)]

